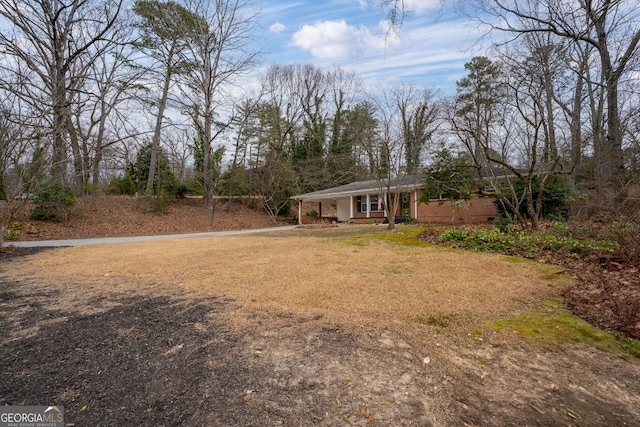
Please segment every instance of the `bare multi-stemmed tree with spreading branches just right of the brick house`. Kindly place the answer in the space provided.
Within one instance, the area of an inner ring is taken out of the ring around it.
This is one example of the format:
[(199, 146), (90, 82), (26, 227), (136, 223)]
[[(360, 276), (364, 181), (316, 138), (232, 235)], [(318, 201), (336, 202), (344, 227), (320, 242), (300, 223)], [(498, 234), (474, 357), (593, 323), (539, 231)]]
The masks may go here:
[[(549, 107), (545, 96), (556, 82), (546, 80), (548, 64), (532, 50), (510, 64), (474, 58), (469, 76), (458, 82), (450, 120), (475, 164), (480, 193), (496, 198), (523, 228), (537, 229), (546, 184), (562, 173), (563, 157), (551, 148), (557, 122), (549, 121), (547, 111), (553, 108), (555, 114), (559, 107)], [(492, 84), (470, 85), (470, 80)]]

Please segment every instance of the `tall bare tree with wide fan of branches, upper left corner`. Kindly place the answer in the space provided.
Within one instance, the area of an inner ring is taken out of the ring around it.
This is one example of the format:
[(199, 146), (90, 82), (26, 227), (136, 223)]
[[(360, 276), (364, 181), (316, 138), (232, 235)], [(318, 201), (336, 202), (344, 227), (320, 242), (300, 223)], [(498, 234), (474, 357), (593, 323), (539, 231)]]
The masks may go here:
[(65, 180), (71, 114), (79, 108), (81, 88), (93, 59), (103, 53), (99, 41), (110, 40), (123, 0), (6, 0), (0, 17), (11, 29), (0, 33), (1, 66), (13, 81), (14, 96), (28, 102), (33, 114), (48, 119), (53, 176)]

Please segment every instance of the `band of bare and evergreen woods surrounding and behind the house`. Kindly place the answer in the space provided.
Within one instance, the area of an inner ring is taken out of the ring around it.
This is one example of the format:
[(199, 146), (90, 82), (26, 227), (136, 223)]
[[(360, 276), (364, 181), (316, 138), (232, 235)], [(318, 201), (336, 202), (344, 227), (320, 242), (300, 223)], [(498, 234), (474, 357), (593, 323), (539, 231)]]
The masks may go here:
[[(402, 2), (386, 2), (401, 30)], [(0, 5), (0, 235), (32, 195), (289, 197), (428, 172), (426, 198), (495, 197), (535, 229), (545, 197), (636, 215), (640, 11), (632, 1), (461, 2), (495, 37), (457, 92), (272, 64), (248, 0)], [(387, 211), (393, 212), (391, 207)], [(549, 212), (546, 212), (549, 214)]]

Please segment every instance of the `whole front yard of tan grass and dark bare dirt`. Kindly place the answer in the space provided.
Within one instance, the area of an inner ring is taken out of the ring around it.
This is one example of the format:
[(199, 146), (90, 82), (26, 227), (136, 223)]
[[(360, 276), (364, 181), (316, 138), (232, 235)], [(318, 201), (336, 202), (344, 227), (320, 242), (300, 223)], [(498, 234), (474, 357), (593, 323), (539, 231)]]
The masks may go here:
[(0, 404), (75, 426), (640, 424), (638, 359), (551, 314), (568, 335), (495, 327), (561, 310), (569, 274), (381, 230), (0, 253)]

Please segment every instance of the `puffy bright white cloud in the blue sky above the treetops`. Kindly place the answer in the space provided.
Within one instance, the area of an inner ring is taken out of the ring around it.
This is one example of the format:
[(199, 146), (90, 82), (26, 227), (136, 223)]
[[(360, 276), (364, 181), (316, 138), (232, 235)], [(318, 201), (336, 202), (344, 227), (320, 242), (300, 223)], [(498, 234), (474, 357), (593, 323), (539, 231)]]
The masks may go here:
[(341, 20), (304, 25), (293, 35), (291, 45), (318, 58), (348, 58), (360, 56), (371, 47), (388, 48), (389, 40), (374, 36), (363, 25), (347, 25)]

